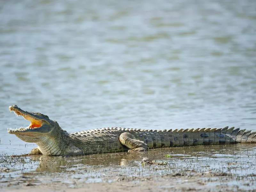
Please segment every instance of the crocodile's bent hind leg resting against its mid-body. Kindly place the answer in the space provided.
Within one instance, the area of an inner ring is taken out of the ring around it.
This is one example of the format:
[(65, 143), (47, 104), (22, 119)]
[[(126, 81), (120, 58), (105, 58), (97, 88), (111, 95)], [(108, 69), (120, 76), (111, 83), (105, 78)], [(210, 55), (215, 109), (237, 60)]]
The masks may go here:
[(119, 136), (120, 142), (130, 148), (128, 152), (148, 151), (148, 145), (141, 140), (137, 140), (131, 133), (124, 132)]

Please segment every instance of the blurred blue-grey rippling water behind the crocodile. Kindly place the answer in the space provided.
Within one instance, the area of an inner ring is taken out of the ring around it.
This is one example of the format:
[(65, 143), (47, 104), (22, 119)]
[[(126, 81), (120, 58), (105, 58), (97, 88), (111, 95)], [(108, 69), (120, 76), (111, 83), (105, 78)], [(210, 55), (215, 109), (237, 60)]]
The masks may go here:
[(0, 1), (0, 152), (41, 112), (101, 127), (256, 130), (254, 0)]

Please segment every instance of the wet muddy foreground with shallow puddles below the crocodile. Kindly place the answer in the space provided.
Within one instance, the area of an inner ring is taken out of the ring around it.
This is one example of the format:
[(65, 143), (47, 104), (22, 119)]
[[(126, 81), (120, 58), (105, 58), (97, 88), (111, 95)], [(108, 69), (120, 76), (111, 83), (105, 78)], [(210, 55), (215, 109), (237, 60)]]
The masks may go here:
[[(142, 161), (143, 159), (143, 161)], [(1, 191), (255, 191), (255, 145), (0, 156)]]

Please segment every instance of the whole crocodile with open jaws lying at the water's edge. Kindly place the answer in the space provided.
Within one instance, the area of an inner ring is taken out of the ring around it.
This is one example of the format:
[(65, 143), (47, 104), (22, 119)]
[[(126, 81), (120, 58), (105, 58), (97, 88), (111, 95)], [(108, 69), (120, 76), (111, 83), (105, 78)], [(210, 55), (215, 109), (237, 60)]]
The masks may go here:
[(27, 127), (8, 129), (8, 133), (15, 134), (21, 140), (38, 145), (24, 155), (68, 157), (121, 151), (140, 152), (162, 147), (256, 142), (256, 132), (235, 127), (169, 131), (108, 127), (68, 133), (44, 114), (24, 111), (16, 105), (10, 106), (9, 110), (30, 121)]

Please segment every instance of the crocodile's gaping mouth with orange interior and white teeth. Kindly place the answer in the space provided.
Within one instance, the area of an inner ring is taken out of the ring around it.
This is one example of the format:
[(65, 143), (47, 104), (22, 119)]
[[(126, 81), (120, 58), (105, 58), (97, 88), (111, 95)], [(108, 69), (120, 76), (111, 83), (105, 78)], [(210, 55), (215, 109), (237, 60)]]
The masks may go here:
[(14, 112), (16, 116), (23, 116), (24, 119), (30, 121), (30, 124), (27, 127), (20, 127), (16, 129), (8, 129), (8, 132), (22, 132), (22, 131), (27, 131), (30, 129), (36, 129), (42, 126), (42, 120), (37, 119), (36, 117), (30, 115), (30, 112), (23, 111), (20, 108), (18, 108), (16, 105), (12, 105), (9, 107), (10, 112)]

